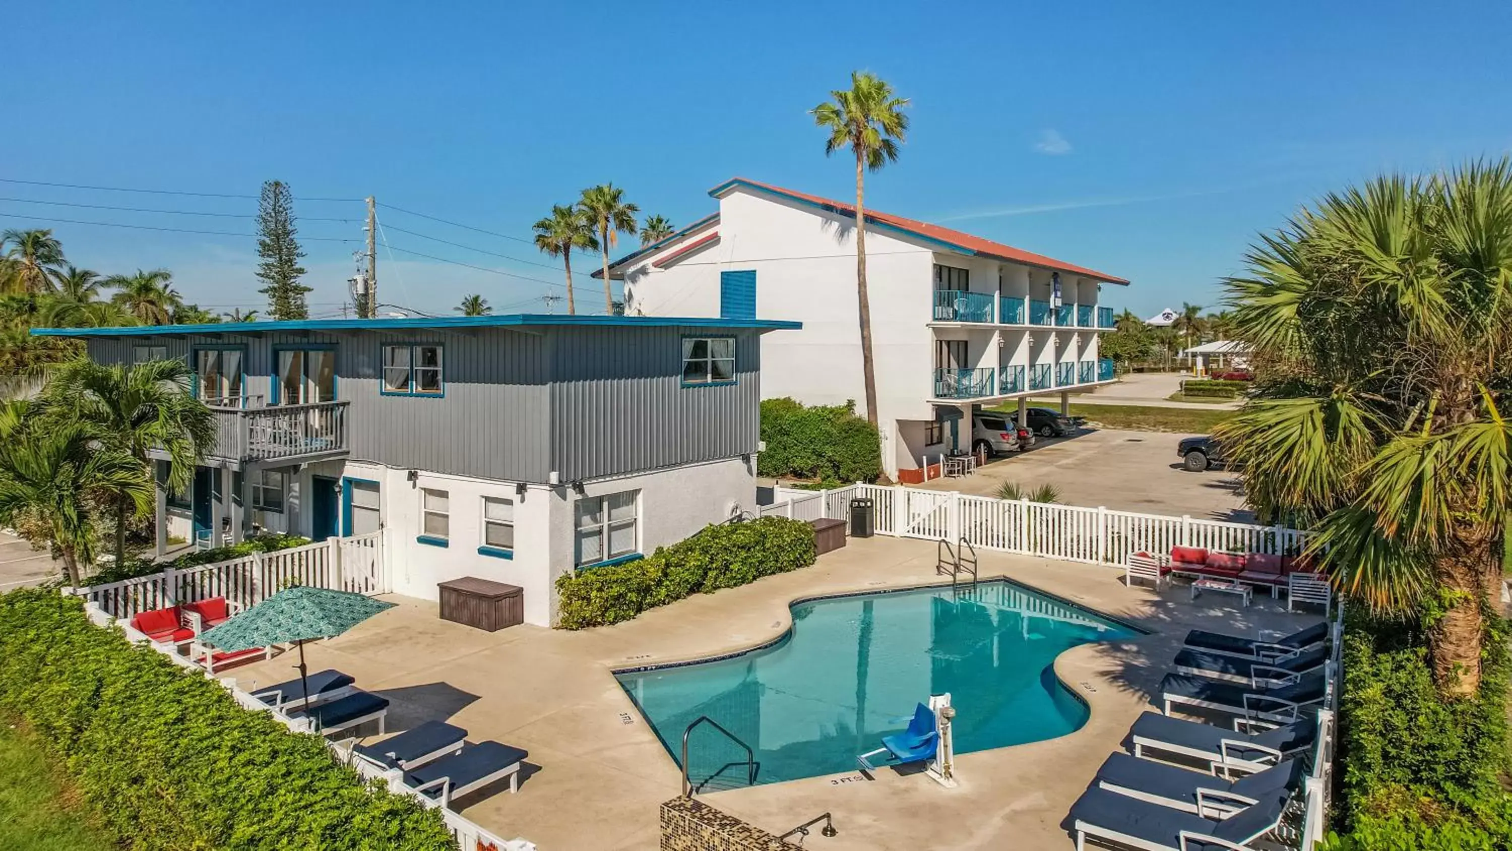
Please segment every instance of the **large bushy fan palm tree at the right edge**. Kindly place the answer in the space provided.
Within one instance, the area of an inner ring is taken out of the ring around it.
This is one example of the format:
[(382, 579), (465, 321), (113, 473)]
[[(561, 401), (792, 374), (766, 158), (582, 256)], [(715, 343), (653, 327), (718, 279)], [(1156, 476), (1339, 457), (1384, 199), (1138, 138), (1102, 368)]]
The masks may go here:
[(1438, 688), (1480, 686), (1512, 511), (1512, 163), (1317, 201), (1226, 281), (1267, 364), (1220, 428), (1249, 502), (1376, 609), (1415, 611)]

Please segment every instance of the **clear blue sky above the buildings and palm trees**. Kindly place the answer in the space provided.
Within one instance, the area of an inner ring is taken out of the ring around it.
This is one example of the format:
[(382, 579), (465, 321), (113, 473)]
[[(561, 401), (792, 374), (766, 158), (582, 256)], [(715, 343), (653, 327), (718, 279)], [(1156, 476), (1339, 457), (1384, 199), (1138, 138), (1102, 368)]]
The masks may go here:
[[(1506, 3), (304, 6), (33, 6), (0, 56), (0, 178), (233, 195), (280, 178), (351, 198), (296, 213), (305, 237), (354, 240), (360, 222), (314, 219), (360, 219), (372, 193), (393, 248), (519, 275), (380, 248), (384, 301), (541, 310), (559, 271), (393, 228), (550, 265), (534, 246), (383, 206), (528, 239), (608, 180), (677, 224), (732, 175), (847, 198), (851, 166), (824, 157), (806, 110), (866, 68), (913, 101), (871, 206), (1126, 277), (1107, 298), (1151, 314), (1213, 305), (1256, 231), (1321, 192), (1512, 150), (1512, 65), (1486, 41), (1512, 32)], [(53, 227), (82, 266), (165, 266), (194, 301), (262, 302), (249, 236), (44, 221), (249, 234), (249, 219), (20, 200), (254, 201), (18, 183), (0, 198), (0, 225)], [(305, 248), (311, 311), (331, 314), (357, 243)]]

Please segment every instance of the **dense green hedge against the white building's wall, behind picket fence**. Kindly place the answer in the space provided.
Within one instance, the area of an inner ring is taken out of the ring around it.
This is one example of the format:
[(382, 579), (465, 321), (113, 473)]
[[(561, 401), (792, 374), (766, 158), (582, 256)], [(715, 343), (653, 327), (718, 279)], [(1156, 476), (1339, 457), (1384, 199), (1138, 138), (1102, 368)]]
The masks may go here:
[(874, 482), (881, 475), (881, 440), (856, 404), (804, 407), (792, 399), (767, 399), (761, 404), (761, 438), (767, 449), (758, 455), (762, 476), (798, 476)]

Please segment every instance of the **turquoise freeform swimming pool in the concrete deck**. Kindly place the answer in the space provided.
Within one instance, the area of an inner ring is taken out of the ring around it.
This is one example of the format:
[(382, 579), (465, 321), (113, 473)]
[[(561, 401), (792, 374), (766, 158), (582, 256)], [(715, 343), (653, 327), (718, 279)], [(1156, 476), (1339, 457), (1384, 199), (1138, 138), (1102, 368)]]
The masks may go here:
[[(885, 733), (907, 727), (915, 704), (947, 691), (957, 753), (1063, 736), (1087, 721), (1087, 707), (1055, 679), (1055, 656), (1136, 635), (998, 580), (960, 593), (916, 588), (797, 603), (792, 630), (770, 647), (615, 677), (674, 762), (683, 730), (708, 715), (756, 751), (761, 784), (854, 769), (856, 754), (880, 747)], [(711, 789), (744, 786), (744, 760), (706, 724), (689, 738), (694, 783), (718, 775)]]

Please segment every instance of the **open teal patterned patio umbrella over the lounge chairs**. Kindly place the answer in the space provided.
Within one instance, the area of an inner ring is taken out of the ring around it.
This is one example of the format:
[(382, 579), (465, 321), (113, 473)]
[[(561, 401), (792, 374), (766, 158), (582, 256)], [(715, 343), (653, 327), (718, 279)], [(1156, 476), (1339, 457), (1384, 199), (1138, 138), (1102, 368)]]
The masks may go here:
[(299, 686), (308, 698), (310, 683), (305, 680), (304, 642), (334, 638), (392, 608), (393, 603), (351, 591), (284, 588), (224, 624), (207, 630), (200, 636), (200, 641), (227, 653), (293, 641), (299, 645)]

